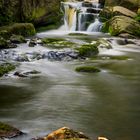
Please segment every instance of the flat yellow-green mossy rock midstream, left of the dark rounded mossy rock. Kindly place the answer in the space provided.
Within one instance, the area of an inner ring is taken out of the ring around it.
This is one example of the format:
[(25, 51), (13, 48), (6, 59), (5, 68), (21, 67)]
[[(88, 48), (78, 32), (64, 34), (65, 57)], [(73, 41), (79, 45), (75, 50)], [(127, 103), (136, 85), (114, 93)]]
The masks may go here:
[(75, 43), (70, 42), (68, 40), (62, 39), (62, 38), (44, 38), (42, 39), (43, 44), (45, 44), (46, 47), (51, 48), (72, 48), (75, 47)]

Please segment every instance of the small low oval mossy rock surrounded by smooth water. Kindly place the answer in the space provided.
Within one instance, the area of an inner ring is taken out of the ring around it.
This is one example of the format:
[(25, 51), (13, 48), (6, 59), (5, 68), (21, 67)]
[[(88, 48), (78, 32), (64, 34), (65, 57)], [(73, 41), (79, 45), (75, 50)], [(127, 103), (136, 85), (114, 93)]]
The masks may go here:
[(89, 73), (100, 72), (100, 69), (94, 66), (80, 66), (80, 67), (77, 67), (75, 70), (77, 72), (89, 72)]

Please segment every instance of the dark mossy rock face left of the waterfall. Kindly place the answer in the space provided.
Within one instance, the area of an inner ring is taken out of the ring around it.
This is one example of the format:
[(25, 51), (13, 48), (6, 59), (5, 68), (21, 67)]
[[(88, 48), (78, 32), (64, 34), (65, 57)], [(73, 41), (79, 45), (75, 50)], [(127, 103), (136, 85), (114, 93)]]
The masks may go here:
[(10, 22), (53, 24), (59, 18), (60, 0), (1, 0), (0, 26)]

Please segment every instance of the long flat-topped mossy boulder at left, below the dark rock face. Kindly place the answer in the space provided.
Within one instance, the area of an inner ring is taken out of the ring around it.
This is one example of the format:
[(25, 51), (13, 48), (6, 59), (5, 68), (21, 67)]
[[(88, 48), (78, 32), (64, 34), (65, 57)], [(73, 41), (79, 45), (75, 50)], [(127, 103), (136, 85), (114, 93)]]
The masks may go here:
[(22, 36), (32, 36), (36, 33), (34, 25), (32, 23), (14, 23), (9, 26), (0, 27), (0, 31), (7, 31), (9, 36), (12, 34)]

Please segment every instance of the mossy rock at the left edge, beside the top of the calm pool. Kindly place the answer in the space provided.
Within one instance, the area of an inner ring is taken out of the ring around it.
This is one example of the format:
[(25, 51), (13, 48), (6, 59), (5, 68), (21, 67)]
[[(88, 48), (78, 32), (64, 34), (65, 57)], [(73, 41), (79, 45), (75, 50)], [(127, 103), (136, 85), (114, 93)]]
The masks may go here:
[(16, 67), (11, 63), (2, 63), (0, 64), (0, 77), (4, 74), (8, 73), (9, 71), (14, 70)]

